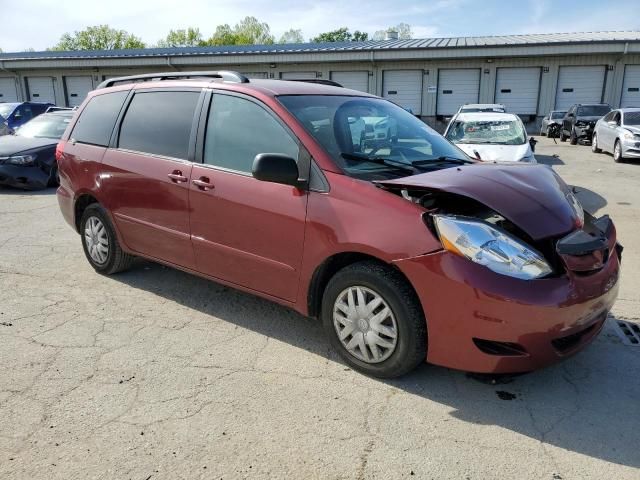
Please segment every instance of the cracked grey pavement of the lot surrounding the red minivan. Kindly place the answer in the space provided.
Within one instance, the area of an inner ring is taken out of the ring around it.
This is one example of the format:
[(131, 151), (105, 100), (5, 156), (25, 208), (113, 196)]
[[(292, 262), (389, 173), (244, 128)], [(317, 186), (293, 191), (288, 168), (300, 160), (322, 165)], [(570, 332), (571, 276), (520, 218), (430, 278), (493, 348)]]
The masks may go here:
[[(640, 163), (537, 154), (616, 221), (612, 318), (638, 322)], [(639, 378), (610, 320), (497, 384), (428, 365), (369, 379), (270, 302), (142, 261), (97, 275), (53, 190), (0, 188), (2, 479), (637, 479)]]

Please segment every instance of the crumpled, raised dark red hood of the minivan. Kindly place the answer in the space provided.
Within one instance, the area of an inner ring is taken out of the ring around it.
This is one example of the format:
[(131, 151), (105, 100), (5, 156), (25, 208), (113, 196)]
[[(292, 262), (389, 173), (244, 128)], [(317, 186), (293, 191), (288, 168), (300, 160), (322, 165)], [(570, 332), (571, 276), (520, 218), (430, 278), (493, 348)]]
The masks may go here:
[(472, 198), (518, 225), (534, 240), (564, 235), (580, 225), (569, 200), (573, 193), (545, 165), (475, 163), (376, 183)]

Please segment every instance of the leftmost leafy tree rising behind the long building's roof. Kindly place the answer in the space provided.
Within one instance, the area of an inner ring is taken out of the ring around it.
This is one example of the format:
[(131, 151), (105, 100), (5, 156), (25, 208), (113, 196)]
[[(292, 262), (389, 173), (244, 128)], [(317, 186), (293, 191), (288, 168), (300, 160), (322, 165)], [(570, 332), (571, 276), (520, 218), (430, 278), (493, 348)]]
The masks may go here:
[(98, 25), (73, 34), (65, 33), (50, 50), (118, 50), (144, 47), (142, 40), (125, 30)]

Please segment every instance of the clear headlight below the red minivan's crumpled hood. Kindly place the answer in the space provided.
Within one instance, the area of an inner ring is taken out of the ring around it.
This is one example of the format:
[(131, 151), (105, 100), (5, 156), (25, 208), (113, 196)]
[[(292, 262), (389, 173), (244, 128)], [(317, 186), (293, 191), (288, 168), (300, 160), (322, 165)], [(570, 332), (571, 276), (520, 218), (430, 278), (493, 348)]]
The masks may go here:
[(456, 255), (522, 280), (552, 273), (542, 255), (487, 223), (447, 215), (433, 218), (443, 247)]

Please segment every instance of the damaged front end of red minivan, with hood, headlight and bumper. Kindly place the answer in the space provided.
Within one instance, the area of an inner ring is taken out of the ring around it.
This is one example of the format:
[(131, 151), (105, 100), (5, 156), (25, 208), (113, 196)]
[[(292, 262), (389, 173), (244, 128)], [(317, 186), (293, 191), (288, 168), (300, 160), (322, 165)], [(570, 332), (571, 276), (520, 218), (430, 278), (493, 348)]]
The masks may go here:
[(474, 164), (378, 182), (424, 208), (442, 249), (394, 262), (416, 286), (434, 364), (524, 372), (579, 351), (617, 296), (613, 222), (552, 169)]

